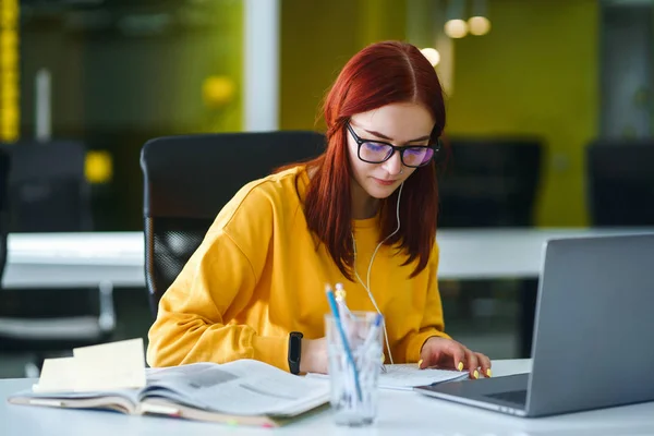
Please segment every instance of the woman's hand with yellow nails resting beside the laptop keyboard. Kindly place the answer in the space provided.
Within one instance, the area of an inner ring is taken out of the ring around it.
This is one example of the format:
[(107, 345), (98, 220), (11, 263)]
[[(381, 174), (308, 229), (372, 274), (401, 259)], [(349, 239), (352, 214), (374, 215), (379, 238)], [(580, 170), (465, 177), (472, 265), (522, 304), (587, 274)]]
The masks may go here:
[(475, 353), (452, 339), (431, 337), (420, 352), (420, 368), (436, 366), (439, 368), (463, 371), (467, 368), (470, 378), (480, 375), (491, 377), (491, 359)]

